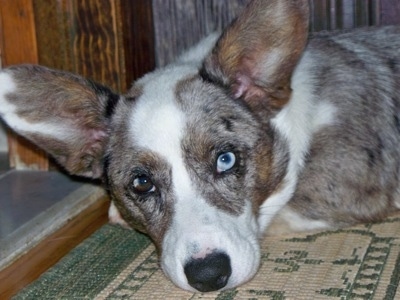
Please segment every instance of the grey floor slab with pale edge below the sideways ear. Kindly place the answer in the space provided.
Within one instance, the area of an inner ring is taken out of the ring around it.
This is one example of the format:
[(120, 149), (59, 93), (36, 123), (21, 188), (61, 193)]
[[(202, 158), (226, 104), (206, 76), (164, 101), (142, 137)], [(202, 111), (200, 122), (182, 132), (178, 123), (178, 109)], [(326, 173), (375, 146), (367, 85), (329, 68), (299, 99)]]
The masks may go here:
[(59, 172), (0, 172), (0, 269), (90, 205), (96, 185)]

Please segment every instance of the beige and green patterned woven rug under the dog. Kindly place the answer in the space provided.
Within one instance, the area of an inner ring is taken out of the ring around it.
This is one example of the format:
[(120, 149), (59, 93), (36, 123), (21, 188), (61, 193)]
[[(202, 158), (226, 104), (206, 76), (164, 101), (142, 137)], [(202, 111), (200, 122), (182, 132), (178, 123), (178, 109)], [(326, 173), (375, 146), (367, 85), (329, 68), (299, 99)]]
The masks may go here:
[(188, 293), (164, 277), (153, 245), (105, 225), (15, 299), (400, 299), (400, 215), (368, 225), (264, 239), (256, 277)]

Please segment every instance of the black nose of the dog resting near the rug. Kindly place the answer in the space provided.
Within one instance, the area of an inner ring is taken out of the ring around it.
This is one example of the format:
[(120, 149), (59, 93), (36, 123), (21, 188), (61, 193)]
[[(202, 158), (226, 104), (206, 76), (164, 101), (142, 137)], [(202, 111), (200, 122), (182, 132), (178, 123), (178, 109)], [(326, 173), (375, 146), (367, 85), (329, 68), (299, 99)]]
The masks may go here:
[(200, 292), (223, 288), (232, 273), (229, 256), (221, 252), (191, 259), (186, 263), (184, 270), (189, 284)]

